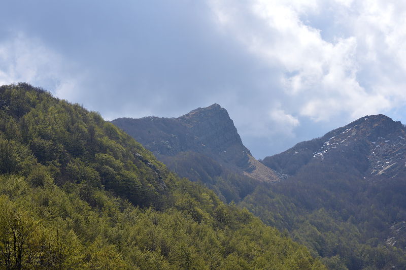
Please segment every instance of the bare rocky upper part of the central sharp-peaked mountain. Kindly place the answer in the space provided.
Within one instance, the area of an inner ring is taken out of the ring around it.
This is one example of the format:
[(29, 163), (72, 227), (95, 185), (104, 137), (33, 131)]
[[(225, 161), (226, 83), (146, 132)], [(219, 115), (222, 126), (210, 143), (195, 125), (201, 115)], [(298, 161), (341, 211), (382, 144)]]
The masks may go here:
[(252, 157), (227, 111), (218, 104), (178, 118), (119, 118), (112, 121), (158, 157), (195, 152), (232, 172), (259, 181), (278, 181), (272, 169)]

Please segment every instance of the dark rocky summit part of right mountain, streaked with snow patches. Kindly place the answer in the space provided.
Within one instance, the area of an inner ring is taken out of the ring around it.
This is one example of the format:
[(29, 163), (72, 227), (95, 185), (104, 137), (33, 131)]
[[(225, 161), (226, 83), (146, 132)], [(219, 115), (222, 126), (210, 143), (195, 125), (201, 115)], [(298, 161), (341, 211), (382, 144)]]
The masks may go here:
[(351, 167), (371, 180), (406, 176), (406, 128), (385, 115), (365, 116), (262, 162), (288, 175), (320, 162)]

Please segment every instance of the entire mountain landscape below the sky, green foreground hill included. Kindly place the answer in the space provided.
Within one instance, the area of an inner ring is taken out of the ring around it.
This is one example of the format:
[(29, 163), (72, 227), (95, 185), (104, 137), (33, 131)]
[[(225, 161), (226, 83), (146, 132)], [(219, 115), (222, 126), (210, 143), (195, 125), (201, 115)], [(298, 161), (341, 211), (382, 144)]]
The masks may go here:
[(107, 122), (4, 85), (0, 267), (405, 269), (405, 132), (365, 116), (256, 160), (217, 104)]

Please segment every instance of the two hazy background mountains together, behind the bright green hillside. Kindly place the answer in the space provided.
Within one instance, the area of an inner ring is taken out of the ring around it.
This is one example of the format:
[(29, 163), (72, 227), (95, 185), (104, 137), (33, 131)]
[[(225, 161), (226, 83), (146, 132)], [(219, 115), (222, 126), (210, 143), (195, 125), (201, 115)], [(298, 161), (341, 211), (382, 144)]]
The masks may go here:
[(364, 116), (260, 161), (217, 104), (178, 118), (112, 123), (180, 176), (287, 230), (331, 269), (406, 267), (406, 128), (400, 122)]

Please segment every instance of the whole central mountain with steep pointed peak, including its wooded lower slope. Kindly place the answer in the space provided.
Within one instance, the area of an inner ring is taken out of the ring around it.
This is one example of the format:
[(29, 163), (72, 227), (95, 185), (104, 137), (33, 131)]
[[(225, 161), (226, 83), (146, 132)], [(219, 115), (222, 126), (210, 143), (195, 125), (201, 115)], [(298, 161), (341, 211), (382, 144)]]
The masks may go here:
[(227, 111), (218, 104), (178, 118), (111, 121), (182, 177), (207, 184), (226, 201), (239, 201), (258, 182), (279, 177), (243, 145)]

